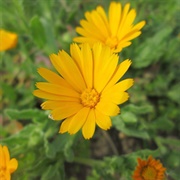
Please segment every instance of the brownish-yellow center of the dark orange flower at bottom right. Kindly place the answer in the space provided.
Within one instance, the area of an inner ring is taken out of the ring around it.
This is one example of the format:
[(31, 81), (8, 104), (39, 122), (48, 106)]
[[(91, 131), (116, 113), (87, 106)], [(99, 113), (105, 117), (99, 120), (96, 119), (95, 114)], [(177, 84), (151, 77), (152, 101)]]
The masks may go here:
[(157, 170), (154, 167), (146, 166), (142, 171), (142, 177), (144, 180), (154, 180), (157, 176)]

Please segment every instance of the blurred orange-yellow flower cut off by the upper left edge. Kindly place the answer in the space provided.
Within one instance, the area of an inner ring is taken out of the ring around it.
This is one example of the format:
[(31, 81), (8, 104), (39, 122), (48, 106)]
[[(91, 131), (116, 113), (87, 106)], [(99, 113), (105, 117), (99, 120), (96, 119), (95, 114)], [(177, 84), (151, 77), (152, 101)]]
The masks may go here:
[(17, 34), (0, 29), (0, 52), (14, 48), (17, 40)]

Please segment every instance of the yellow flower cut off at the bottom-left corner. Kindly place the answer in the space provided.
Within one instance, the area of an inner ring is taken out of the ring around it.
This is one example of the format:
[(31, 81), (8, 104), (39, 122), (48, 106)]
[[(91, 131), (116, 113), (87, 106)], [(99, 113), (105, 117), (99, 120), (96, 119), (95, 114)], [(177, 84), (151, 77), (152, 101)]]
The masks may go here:
[(10, 160), (9, 150), (7, 146), (0, 145), (0, 179), (10, 180), (11, 173), (18, 167), (18, 162), (15, 158)]

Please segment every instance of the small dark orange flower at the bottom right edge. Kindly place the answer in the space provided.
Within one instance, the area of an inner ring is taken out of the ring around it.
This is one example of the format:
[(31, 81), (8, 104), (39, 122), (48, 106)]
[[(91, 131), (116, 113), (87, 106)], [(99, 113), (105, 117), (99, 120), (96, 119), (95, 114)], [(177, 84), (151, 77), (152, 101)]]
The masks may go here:
[(133, 174), (133, 180), (163, 180), (166, 168), (159, 160), (149, 156), (147, 160), (138, 158), (138, 165)]

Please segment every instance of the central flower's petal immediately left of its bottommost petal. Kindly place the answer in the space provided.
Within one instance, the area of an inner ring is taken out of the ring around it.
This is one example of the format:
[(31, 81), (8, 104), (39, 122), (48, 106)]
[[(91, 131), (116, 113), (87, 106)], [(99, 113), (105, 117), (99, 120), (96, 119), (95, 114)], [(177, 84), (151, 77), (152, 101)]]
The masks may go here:
[(84, 125), (88, 117), (89, 110), (90, 110), (89, 108), (84, 107), (77, 114), (73, 116), (72, 121), (69, 124), (69, 129), (68, 129), (68, 132), (70, 134), (75, 134)]

